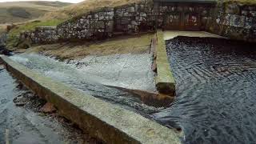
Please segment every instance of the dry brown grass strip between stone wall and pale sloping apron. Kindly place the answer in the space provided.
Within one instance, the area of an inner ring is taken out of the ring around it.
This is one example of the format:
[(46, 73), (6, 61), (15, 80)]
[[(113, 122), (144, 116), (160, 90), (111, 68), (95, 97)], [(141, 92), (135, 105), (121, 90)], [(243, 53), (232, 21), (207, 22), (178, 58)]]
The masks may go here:
[[(58, 43), (31, 47), (26, 53), (43, 53), (60, 59), (85, 58), (87, 55), (142, 54), (150, 50), (153, 34), (112, 38), (102, 42)], [(18, 50), (16, 52), (24, 52)]]

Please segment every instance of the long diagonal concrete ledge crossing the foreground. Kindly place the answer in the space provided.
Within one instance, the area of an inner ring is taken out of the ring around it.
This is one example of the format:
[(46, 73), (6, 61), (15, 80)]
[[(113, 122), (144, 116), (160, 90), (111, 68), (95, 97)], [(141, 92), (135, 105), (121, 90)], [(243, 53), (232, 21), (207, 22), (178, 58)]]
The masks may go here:
[(139, 114), (42, 77), (6, 56), (0, 56), (0, 62), (63, 116), (106, 143), (181, 143), (174, 130)]

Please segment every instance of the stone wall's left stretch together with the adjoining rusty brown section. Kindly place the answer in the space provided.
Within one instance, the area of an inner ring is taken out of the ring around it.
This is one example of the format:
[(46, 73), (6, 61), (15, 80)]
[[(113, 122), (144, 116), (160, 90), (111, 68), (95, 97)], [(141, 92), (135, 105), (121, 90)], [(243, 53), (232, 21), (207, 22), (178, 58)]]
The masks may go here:
[[(199, 5), (199, 6), (198, 6)], [(205, 7), (204, 7), (205, 6)], [(213, 4), (182, 5), (145, 0), (117, 7), (104, 7), (62, 22), (56, 28), (40, 27), (21, 34), (33, 43), (53, 43), (66, 40), (110, 38), (119, 34), (138, 34), (155, 31), (157, 28), (182, 28), (205, 30)], [(197, 14), (194, 15), (193, 14)], [(192, 18), (192, 19), (191, 19)]]

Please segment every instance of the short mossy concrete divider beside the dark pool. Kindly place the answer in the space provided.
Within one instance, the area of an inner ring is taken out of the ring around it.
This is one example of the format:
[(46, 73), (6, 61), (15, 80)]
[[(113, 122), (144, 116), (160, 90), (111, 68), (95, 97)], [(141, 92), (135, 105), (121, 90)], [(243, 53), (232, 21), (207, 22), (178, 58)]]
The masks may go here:
[(157, 73), (156, 86), (158, 91), (166, 94), (175, 94), (175, 79), (170, 69), (170, 63), (166, 53), (166, 42), (163, 38), (162, 30), (157, 32), (157, 46), (156, 46), (156, 64)]

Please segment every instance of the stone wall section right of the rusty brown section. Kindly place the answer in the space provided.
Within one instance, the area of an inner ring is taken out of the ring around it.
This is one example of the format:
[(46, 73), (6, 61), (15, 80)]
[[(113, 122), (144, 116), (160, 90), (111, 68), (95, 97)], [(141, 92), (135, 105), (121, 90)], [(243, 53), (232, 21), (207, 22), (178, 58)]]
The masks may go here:
[(256, 6), (238, 2), (218, 3), (207, 30), (226, 38), (256, 42)]

